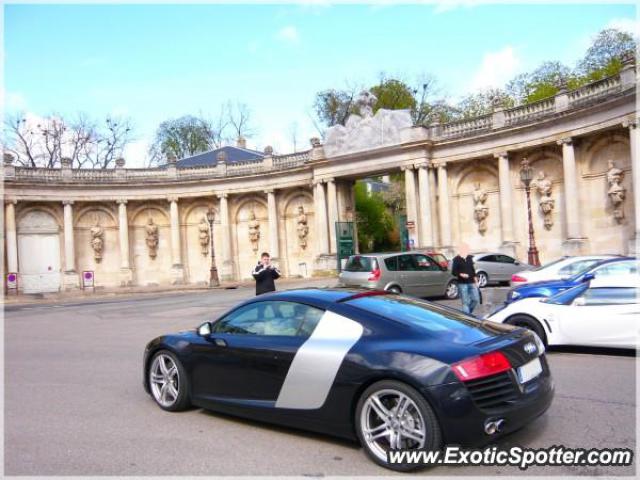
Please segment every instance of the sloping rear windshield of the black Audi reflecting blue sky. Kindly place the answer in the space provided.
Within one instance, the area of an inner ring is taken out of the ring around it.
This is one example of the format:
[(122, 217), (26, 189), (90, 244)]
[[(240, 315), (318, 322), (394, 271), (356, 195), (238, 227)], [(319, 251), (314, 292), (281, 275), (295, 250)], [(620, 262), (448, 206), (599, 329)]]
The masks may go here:
[(432, 336), (452, 343), (467, 344), (493, 335), (482, 323), (453, 308), (400, 295), (360, 297), (349, 305), (391, 320), (418, 327)]

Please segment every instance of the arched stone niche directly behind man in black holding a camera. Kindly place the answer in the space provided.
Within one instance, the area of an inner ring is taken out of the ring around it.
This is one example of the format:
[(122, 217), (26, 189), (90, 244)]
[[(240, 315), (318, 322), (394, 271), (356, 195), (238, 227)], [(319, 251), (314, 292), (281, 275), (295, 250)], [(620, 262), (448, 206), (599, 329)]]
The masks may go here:
[(240, 200), (233, 218), (235, 218), (235, 226), (232, 229), (232, 235), (235, 241), (238, 277), (250, 279), (252, 278), (251, 271), (258, 263), (260, 254), (269, 251), (269, 221), (266, 201), (257, 197)]

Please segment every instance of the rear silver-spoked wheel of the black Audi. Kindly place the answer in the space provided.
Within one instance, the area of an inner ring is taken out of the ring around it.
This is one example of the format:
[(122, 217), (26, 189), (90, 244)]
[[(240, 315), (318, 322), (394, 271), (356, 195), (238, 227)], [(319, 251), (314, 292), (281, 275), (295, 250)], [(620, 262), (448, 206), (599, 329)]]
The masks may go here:
[(356, 432), (367, 455), (379, 465), (398, 471), (416, 464), (392, 464), (390, 450), (439, 450), (440, 425), (433, 410), (414, 388), (395, 380), (367, 388), (356, 408)]

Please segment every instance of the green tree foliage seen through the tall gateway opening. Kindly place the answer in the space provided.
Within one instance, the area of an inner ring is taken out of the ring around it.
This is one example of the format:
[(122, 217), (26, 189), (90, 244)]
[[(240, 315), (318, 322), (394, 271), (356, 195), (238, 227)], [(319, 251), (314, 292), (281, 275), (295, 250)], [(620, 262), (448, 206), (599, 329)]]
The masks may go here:
[(363, 253), (384, 250), (392, 242), (393, 218), (379, 193), (368, 193), (364, 182), (355, 184), (358, 244)]

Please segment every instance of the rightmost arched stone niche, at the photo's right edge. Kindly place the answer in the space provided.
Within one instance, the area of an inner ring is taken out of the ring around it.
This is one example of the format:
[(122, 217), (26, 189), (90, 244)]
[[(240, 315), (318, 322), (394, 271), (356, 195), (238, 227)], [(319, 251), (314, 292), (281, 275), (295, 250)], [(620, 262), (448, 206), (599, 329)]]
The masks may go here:
[[(594, 253), (626, 253), (626, 239), (633, 237), (635, 218), (628, 140), (622, 135), (603, 137), (584, 152), (581, 160), (580, 216), (585, 229), (583, 234), (589, 238), (590, 250)], [(608, 195), (609, 161), (623, 172), (620, 185), (625, 191), (625, 199), (620, 205), (623, 217), (619, 219), (614, 214), (614, 205)]]

